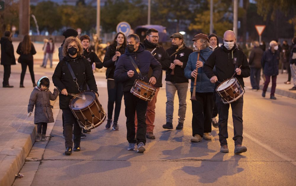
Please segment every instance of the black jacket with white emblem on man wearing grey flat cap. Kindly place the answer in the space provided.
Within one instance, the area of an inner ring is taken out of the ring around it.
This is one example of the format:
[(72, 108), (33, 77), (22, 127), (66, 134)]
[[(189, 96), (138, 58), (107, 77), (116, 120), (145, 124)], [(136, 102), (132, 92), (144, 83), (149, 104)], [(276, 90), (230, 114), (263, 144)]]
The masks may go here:
[[(177, 53), (176, 50), (173, 50), (172, 48), (168, 48), (167, 50), (168, 55), (170, 56), (170, 62), (173, 63), (175, 60), (175, 56), (177, 55), (176, 59), (183, 62), (183, 66), (176, 65), (175, 66), (175, 75), (171, 75), (172, 69), (166, 69), (165, 72), (165, 81), (175, 82), (175, 83), (188, 83), (188, 79), (184, 76), (184, 69), (187, 65), (189, 54), (193, 52), (192, 49), (188, 48), (184, 44), (184, 48), (181, 50), (178, 50)], [(175, 54), (174, 54), (175, 53)]]

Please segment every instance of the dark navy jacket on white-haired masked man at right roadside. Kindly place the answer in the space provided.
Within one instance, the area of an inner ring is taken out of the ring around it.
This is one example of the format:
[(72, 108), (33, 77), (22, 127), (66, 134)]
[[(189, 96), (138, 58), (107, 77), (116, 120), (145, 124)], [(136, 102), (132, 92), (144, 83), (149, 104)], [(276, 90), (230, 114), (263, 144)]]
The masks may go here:
[(276, 50), (275, 53), (272, 53), (271, 49), (265, 50), (261, 58), (261, 65), (266, 76), (279, 75), (279, 50)]

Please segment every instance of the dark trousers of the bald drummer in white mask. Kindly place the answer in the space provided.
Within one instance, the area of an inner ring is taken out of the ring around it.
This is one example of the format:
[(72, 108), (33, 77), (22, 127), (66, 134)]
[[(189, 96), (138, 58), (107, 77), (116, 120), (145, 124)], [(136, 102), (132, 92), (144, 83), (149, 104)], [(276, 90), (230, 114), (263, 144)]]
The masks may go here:
[(228, 131), (227, 131), (227, 120), (228, 120), (228, 112), (229, 112), (229, 105), (231, 105), (232, 110), (232, 121), (233, 121), (233, 128), (234, 128), (234, 145), (241, 145), (242, 144), (242, 108), (244, 104), (243, 96), (240, 97), (237, 101), (234, 101), (230, 104), (224, 104), (221, 101), (220, 96), (216, 93), (216, 105), (218, 108), (219, 114), (219, 141), (220, 145), (227, 145), (227, 138), (228, 138)]

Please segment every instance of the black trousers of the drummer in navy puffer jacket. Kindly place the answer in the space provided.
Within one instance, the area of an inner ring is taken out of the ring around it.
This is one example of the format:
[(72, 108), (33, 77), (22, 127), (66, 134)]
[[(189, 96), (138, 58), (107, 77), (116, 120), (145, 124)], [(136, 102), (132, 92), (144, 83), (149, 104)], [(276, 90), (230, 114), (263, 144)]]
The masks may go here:
[[(143, 142), (146, 144), (146, 110), (148, 102), (140, 98), (137, 98), (130, 92), (125, 92), (124, 94), (124, 104), (126, 106), (126, 138), (129, 143)], [(137, 136), (135, 140), (135, 113), (137, 112), (138, 119), (138, 129)]]

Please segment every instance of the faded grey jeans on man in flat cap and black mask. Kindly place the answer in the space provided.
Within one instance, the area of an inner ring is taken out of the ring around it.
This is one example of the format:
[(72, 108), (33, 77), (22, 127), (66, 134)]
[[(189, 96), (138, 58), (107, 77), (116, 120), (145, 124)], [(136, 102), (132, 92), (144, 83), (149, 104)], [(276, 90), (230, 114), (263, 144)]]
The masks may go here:
[(176, 91), (179, 98), (178, 123), (184, 123), (186, 114), (186, 96), (188, 91), (188, 83), (174, 83), (170, 81), (167, 81), (165, 83), (165, 92), (167, 97), (167, 102), (165, 103), (166, 122), (173, 123), (174, 98)]

